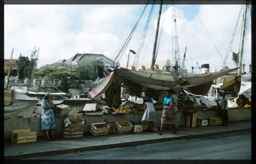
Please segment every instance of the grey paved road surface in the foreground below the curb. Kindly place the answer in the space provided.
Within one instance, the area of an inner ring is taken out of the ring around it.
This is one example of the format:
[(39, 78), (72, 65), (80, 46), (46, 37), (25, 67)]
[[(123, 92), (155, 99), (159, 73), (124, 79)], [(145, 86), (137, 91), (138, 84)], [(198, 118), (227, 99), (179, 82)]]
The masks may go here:
[(47, 160), (251, 160), (251, 133), (77, 152), (29, 159)]

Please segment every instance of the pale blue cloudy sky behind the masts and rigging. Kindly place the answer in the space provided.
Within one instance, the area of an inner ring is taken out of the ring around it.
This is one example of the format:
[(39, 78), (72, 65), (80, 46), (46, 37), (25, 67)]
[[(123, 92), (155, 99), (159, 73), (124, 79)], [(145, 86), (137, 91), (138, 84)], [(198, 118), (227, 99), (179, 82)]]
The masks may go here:
[[(77, 53), (104, 54), (109, 59), (115, 59), (141, 8), (143, 5), (139, 4), (5, 4), (4, 59), (10, 59), (12, 48), (13, 59), (18, 59), (20, 54), (30, 57), (33, 50), (40, 48), (37, 68), (69, 59)], [(126, 67), (129, 49), (138, 50), (150, 8), (148, 5), (127, 50), (124, 50), (118, 61), (122, 67)], [(171, 18), (175, 15), (175, 36), (178, 36), (176, 43), (179, 45), (180, 61), (185, 61), (188, 71), (191, 72), (193, 66), (196, 72), (196, 63), (199, 66), (209, 64), (210, 70), (220, 69), (229, 49), (228, 44), (240, 9), (241, 5), (235, 4), (163, 5), (156, 64), (161, 66), (167, 59), (173, 61), (174, 26)], [(154, 6), (138, 65), (150, 66), (158, 10), (159, 5)], [(251, 64), (250, 22), (249, 17), (243, 57), (246, 71)], [(239, 50), (240, 29), (241, 24), (238, 24), (234, 45), (231, 47), (236, 53)], [(187, 50), (184, 59), (185, 47)], [(134, 55), (131, 54), (129, 66), (133, 60)], [(236, 67), (232, 54), (228, 56), (227, 65), (229, 68)]]

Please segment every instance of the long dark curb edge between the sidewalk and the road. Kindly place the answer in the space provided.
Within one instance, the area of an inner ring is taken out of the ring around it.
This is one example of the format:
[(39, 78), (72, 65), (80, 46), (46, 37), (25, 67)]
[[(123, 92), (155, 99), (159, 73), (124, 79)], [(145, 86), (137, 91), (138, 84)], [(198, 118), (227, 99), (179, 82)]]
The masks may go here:
[(242, 129), (242, 130), (230, 130), (230, 131), (218, 131), (213, 133), (204, 133), (204, 134), (196, 134), (196, 135), (184, 135), (179, 137), (167, 137), (167, 138), (156, 138), (151, 140), (140, 140), (140, 141), (132, 141), (132, 142), (122, 142), (118, 144), (106, 144), (106, 145), (93, 145), (88, 147), (76, 147), (72, 149), (61, 149), (61, 150), (52, 150), (52, 151), (45, 151), (40, 153), (27, 153), (27, 154), (15, 154), (4, 156), (4, 160), (20, 160), (24, 158), (31, 158), (31, 157), (39, 157), (39, 156), (52, 156), (58, 154), (67, 154), (67, 153), (77, 153), (77, 152), (84, 152), (84, 151), (97, 151), (102, 149), (113, 149), (118, 147), (127, 147), (127, 146), (135, 146), (135, 145), (143, 145), (143, 144), (154, 144), (157, 142), (169, 142), (174, 140), (187, 140), (193, 138), (203, 138), (209, 137), (211, 135), (221, 135), (221, 134), (228, 134), (228, 133), (239, 133), (251, 131), (251, 128)]

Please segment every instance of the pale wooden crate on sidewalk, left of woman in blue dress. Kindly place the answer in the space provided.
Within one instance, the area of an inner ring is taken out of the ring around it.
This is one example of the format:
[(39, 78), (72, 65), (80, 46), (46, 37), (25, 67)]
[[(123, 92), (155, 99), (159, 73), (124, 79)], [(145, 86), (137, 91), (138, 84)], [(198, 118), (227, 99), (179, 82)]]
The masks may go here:
[(12, 142), (16, 144), (36, 142), (36, 131), (26, 130), (12, 130)]

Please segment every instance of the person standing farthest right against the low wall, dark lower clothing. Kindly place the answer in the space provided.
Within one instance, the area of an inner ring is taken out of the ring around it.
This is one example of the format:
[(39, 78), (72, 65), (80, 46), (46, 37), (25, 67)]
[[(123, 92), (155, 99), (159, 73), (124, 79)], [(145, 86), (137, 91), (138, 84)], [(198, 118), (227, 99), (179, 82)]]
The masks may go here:
[(222, 119), (222, 124), (228, 124), (228, 98), (226, 97), (225, 91), (219, 91), (217, 99), (218, 113)]

